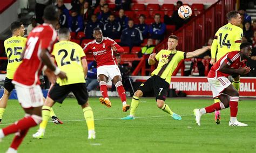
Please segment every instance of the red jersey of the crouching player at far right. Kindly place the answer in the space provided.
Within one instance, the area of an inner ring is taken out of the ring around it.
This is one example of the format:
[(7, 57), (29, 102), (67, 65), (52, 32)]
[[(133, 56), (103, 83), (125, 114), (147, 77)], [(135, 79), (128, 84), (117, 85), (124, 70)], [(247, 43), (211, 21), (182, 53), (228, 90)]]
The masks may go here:
[(230, 68), (238, 69), (241, 67), (245, 67), (245, 60), (241, 60), (240, 52), (239, 51), (233, 51), (229, 52), (224, 55), (224, 57), (220, 58), (211, 68), (210, 72), (208, 73), (208, 78), (215, 78), (215, 77), (228, 77), (228, 75), (223, 72), (220, 72), (220, 66), (223, 64), (223, 62), (226, 62), (227, 65), (229, 65)]

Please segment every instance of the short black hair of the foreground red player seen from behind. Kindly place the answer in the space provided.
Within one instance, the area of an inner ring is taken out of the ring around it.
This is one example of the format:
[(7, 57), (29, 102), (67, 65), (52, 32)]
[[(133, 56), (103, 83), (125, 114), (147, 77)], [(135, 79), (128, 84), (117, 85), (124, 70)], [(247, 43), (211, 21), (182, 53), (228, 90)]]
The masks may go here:
[(58, 19), (58, 16), (59, 16), (59, 13), (58, 13), (58, 9), (56, 8), (56, 6), (48, 5), (44, 9), (44, 15), (43, 15), (44, 19), (50, 20), (50, 21), (55, 21)]

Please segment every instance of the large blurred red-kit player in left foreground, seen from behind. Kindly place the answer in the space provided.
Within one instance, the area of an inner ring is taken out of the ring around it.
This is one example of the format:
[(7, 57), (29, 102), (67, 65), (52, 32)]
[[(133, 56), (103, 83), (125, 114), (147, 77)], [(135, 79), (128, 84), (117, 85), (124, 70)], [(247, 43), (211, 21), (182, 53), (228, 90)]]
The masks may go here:
[[(44, 24), (31, 31), (21, 55), (23, 60), (17, 68), (12, 83), (15, 85), (19, 103), (25, 111), (25, 117), (10, 126), (0, 129), (0, 139), (15, 133), (14, 140), (7, 152), (17, 152), (23, 138), (31, 127), (37, 126), (42, 121), (43, 94), (39, 81), (44, 65), (48, 67), (50, 80), (57, 75), (66, 79), (66, 74), (61, 72), (50, 60), (49, 52), (57, 40), (57, 33), (53, 26), (58, 23), (58, 9), (47, 6), (44, 10)], [(54, 73), (54, 74), (53, 74)]]

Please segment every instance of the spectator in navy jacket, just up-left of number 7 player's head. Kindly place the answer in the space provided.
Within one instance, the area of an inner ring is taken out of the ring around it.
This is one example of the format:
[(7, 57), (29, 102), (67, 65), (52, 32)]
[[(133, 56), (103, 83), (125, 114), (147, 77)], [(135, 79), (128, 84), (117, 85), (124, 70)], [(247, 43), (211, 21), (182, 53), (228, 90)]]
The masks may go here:
[(164, 23), (161, 23), (160, 21), (160, 14), (156, 13), (154, 15), (154, 22), (152, 23), (149, 29), (149, 32), (151, 34), (152, 39), (157, 40), (163, 40), (164, 39), (164, 33), (166, 30), (166, 25)]

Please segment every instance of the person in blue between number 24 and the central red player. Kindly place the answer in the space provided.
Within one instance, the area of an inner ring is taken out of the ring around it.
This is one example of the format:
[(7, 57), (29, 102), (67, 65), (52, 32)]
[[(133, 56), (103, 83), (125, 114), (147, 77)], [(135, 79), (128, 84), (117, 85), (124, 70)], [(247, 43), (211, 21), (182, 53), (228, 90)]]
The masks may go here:
[(99, 82), (97, 80), (97, 63), (95, 60), (88, 64), (88, 72), (85, 80), (88, 92), (99, 86)]

